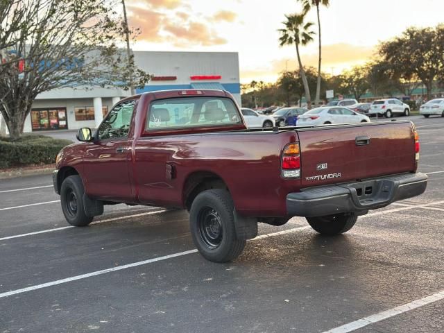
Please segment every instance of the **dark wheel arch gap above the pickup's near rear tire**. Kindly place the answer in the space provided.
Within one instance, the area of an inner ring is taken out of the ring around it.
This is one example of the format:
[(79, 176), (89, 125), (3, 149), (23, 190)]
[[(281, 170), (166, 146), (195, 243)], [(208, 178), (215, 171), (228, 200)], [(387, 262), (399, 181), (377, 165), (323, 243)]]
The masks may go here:
[(213, 171), (195, 171), (187, 176), (182, 189), (183, 205), (189, 210), (198, 194), (207, 189), (227, 189), (227, 183)]

